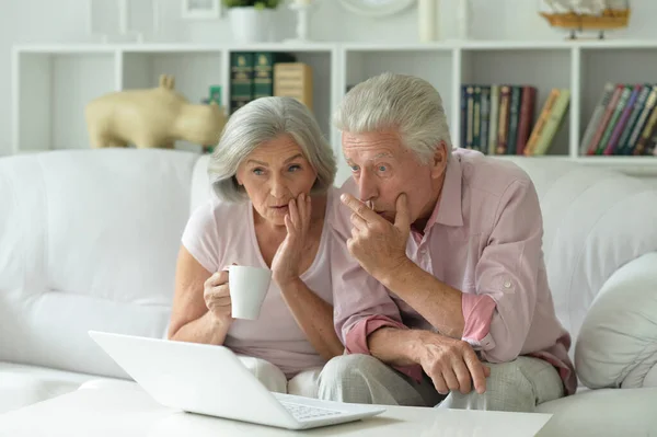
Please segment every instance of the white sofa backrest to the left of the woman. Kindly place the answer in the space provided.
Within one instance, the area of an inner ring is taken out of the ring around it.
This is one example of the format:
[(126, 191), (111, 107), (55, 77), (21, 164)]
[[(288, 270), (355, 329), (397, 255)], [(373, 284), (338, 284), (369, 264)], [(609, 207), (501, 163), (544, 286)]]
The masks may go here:
[(162, 149), (0, 159), (0, 360), (127, 377), (88, 331), (162, 336), (197, 159)]

